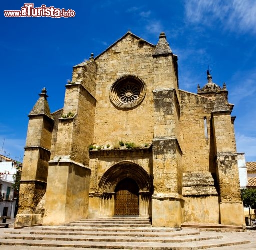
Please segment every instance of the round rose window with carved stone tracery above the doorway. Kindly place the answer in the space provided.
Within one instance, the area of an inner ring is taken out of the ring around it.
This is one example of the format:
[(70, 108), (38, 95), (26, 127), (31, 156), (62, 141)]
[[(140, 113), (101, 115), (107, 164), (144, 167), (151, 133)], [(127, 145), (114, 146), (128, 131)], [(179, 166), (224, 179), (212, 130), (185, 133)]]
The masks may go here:
[(136, 76), (124, 76), (111, 87), (110, 100), (120, 108), (137, 106), (145, 97), (145, 84)]

